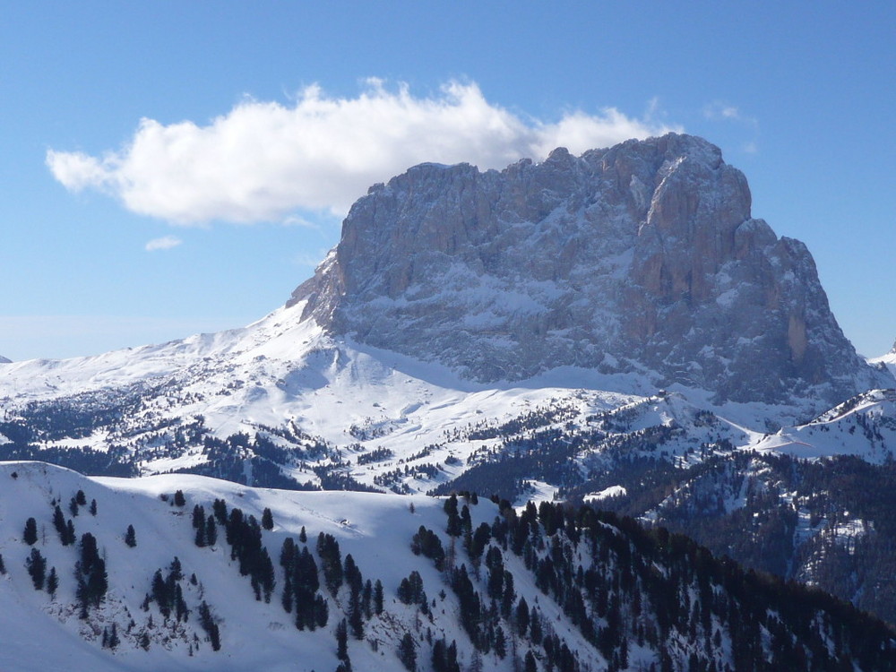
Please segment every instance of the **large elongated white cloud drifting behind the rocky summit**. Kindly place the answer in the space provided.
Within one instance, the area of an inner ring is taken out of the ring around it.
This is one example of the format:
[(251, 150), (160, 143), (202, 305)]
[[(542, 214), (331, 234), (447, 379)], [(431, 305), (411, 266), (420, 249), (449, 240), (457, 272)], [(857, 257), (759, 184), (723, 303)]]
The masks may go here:
[(296, 211), (343, 215), (368, 186), (422, 162), (504, 168), (633, 137), (680, 130), (615, 108), (522, 118), (490, 103), (476, 83), (450, 82), (431, 97), (369, 80), (357, 98), (309, 86), (290, 105), (246, 99), (208, 125), (142, 119), (119, 151), (101, 157), (47, 151), (73, 192), (98, 189), (128, 210), (177, 224), (281, 221)]

